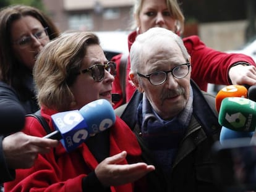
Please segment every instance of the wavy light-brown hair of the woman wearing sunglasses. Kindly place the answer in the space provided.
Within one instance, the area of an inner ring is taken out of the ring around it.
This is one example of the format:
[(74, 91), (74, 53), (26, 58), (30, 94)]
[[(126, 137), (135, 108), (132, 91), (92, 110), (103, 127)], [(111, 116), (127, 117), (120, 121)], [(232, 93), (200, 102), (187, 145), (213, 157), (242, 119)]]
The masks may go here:
[(100, 44), (95, 34), (77, 31), (62, 34), (41, 50), (33, 69), (40, 107), (57, 111), (70, 109), (74, 95), (69, 86), (77, 78), (91, 44)]

